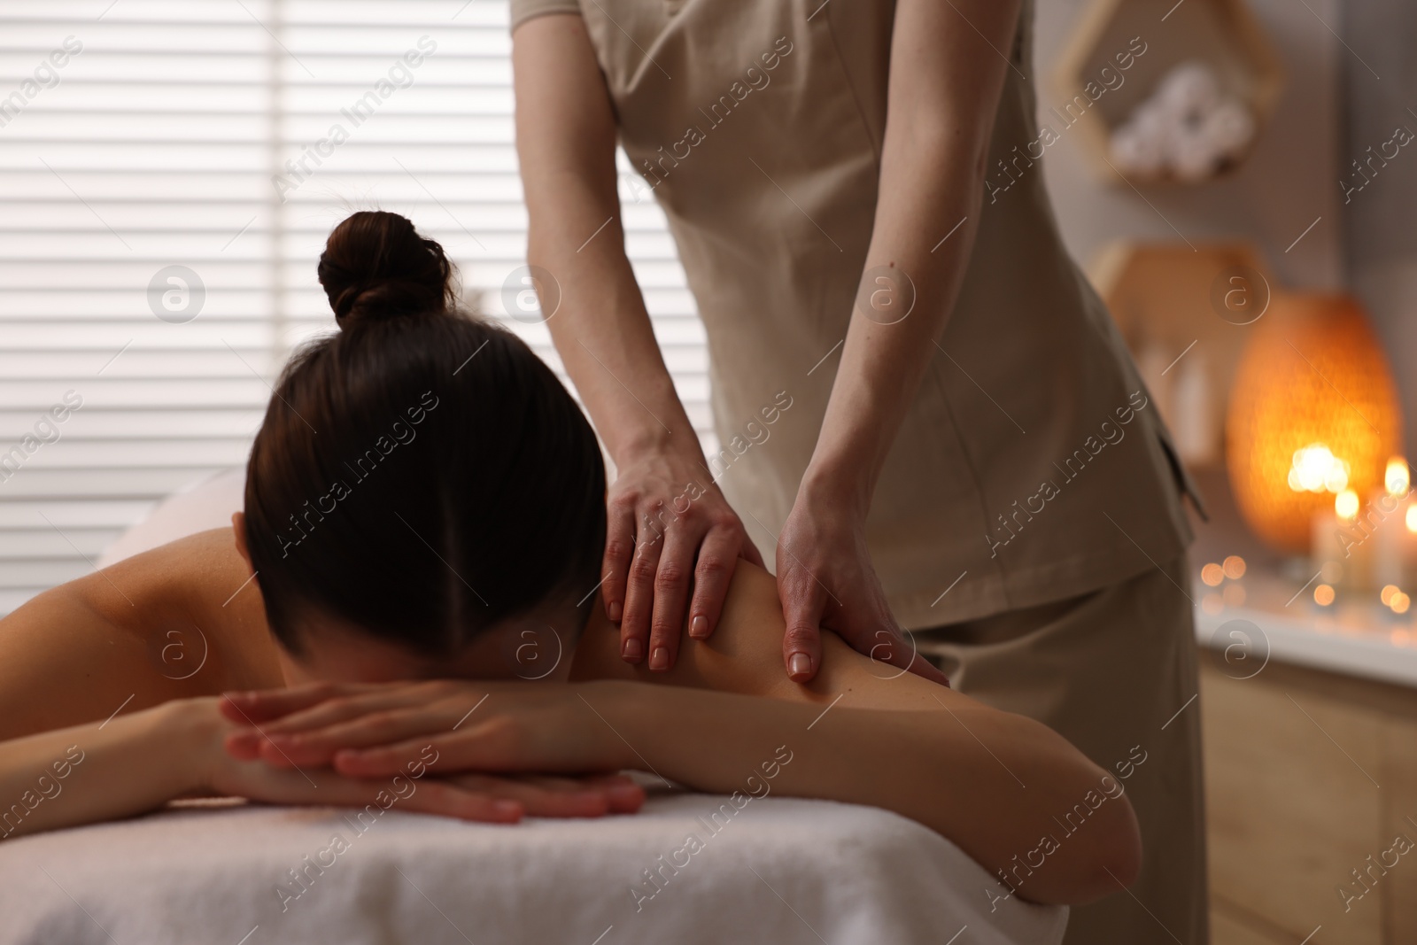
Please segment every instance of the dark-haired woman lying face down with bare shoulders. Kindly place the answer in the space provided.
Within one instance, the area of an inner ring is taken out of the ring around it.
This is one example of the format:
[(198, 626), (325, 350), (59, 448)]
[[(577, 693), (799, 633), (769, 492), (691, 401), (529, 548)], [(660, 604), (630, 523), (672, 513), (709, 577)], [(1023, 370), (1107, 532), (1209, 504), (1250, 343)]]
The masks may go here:
[[(757, 565), (707, 575), (718, 629), (673, 669), (625, 662), (597, 601), (605, 469), (568, 391), (452, 307), (402, 217), (346, 220), (319, 275), (340, 330), (282, 374), (234, 528), (0, 621), (0, 803), (21, 799), (0, 836), (213, 793), (363, 806), (415, 769), (405, 810), (594, 816), (643, 799), (614, 772), (731, 793), (771, 765), (772, 792), (901, 813), (1027, 900), (1135, 878), (1124, 785), (1041, 724), (830, 633), (791, 681)], [(62, 796), (23, 800), (54, 759)]]

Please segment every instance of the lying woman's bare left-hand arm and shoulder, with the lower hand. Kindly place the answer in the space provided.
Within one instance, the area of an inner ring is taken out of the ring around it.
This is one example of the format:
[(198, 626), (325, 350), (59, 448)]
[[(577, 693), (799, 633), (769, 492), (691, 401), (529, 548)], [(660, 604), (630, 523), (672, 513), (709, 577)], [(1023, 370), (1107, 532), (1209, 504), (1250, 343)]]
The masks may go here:
[(639, 806), (622, 778), (465, 775), (429, 781), (410, 802), (387, 779), (231, 758), (221, 745), (235, 725), (215, 693), (282, 686), (249, 577), (231, 530), (217, 528), (62, 584), (0, 621), (0, 839), (191, 795), (363, 806), (384, 792), (407, 810), (476, 820)]

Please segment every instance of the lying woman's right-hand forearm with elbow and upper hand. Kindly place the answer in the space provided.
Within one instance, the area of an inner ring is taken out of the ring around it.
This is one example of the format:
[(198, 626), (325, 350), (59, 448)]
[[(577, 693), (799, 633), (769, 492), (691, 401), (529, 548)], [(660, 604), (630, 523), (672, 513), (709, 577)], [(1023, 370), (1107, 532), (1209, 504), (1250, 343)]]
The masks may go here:
[(934, 711), (922, 711), (853, 708), (849, 691), (818, 706), (619, 680), (319, 684), (231, 697), (231, 710), (278, 718), (228, 748), (361, 778), (427, 744), (444, 771), (633, 768), (713, 793), (894, 810), (1039, 902), (1085, 902), (1135, 880), (1141, 842), (1117, 776), (1036, 721), (932, 689)]

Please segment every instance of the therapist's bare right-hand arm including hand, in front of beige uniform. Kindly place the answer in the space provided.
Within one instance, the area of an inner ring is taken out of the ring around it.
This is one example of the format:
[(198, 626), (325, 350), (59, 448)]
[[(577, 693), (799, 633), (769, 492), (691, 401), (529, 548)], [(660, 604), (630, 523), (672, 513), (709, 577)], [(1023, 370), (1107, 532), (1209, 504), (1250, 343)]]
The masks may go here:
[[(778, 537), (781, 659), (799, 681), (820, 664), (819, 628), (864, 653), (881, 628), (897, 626), (866, 547), (866, 514), (925, 367), (944, 357), (937, 340), (973, 247), (999, 94), (1016, 68), (1006, 57), (1019, 6), (896, 6), (871, 244), (822, 432)], [(904, 640), (896, 646), (890, 662), (904, 666)]]

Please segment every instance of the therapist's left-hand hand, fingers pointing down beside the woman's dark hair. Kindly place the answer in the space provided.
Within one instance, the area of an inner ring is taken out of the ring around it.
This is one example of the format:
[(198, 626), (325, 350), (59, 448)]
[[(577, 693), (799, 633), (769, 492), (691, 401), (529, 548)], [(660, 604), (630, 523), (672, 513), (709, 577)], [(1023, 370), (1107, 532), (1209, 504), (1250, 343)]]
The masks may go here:
[[(738, 558), (762, 555), (699, 456), (663, 451), (629, 459), (606, 499), (605, 616), (621, 626), (621, 656), (667, 670), (689, 636), (718, 625)], [(690, 599), (690, 594), (693, 599)]]

